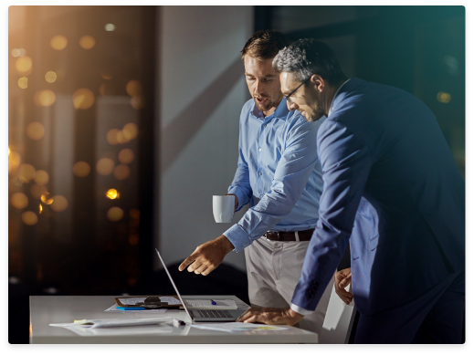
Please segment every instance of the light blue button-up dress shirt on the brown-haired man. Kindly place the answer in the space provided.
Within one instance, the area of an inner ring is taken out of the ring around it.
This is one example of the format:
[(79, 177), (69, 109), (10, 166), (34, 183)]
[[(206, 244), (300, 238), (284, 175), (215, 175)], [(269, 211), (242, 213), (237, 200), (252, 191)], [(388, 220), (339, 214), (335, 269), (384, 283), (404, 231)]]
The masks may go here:
[(240, 116), (239, 157), (228, 193), (248, 213), (224, 235), (241, 251), (268, 231), (300, 232), (315, 228), (322, 193), (317, 136), (321, 123), (290, 111), (282, 99), (263, 117), (253, 99)]

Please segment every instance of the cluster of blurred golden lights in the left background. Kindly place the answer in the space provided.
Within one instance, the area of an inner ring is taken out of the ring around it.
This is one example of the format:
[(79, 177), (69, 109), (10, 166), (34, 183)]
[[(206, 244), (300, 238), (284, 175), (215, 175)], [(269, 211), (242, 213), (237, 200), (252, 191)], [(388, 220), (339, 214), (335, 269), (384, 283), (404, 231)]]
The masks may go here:
[[(112, 32), (116, 29), (113, 24), (107, 24), (105, 30)], [(70, 45), (67, 37), (57, 35), (50, 39), (49, 46), (56, 51), (65, 50)], [(79, 38), (79, 46), (85, 50), (90, 50), (96, 46), (96, 39), (90, 35), (85, 35)], [(26, 56), (24, 48), (15, 48), (11, 52), (12, 57), (16, 57), (16, 71), (20, 78), (18, 78), (18, 87), (20, 89), (28, 89), (28, 76), (31, 75), (34, 69), (34, 61), (31, 57)], [(112, 77), (107, 73), (101, 73), (101, 77), (105, 80), (110, 80)], [(58, 74), (55, 71), (49, 70), (44, 76), (47, 83), (52, 84), (57, 82)], [(131, 96), (131, 105), (136, 110), (141, 110), (143, 107), (142, 100), (142, 84), (138, 80), (130, 80), (125, 88), (126, 92)], [(105, 96), (105, 84), (100, 87), (101, 96)], [(92, 90), (87, 88), (80, 88), (72, 94), (72, 104), (76, 110), (88, 110), (95, 103), (95, 95)], [(57, 95), (53, 89), (41, 89), (34, 94), (34, 102), (37, 107), (50, 107), (57, 101)], [(40, 141), (45, 137), (45, 126), (34, 121), (26, 126), (26, 136), (33, 141)], [(126, 144), (138, 137), (138, 127), (134, 123), (128, 123), (119, 129), (112, 129), (108, 131), (105, 139), (112, 146), (119, 144)], [(122, 149), (118, 154), (119, 164), (111, 158), (101, 158), (96, 163), (96, 171), (101, 176), (109, 176), (113, 174), (116, 180), (123, 181), (130, 177), (132, 171), (130, 164), (135, 159), (134, 152), (129, 149)], [(91, 167), (88, 162), (76, 162), (73, 166), (72, 172), (78, 178), (85, 178), (90, 175)], [(46, 171), (37, 171), (31, 164), (22, 163), (20, 154), (12, 151), (8, 147), (8, 174), (12, 175), (12, 182), (16, 187), (22, 187), (25, 184), (33, 183), (30, 187), (32, 198), (39, 200), (38, 214), (43, 214), (44, 209), (49, 206), (54, 212), (62, 212), (68, 208), (68, 200), (61, 195), (53, 196), (47, 192), (47, 183), (49, 182), (49, 174)], [(121, 194), (116, 189), (110, 189), (106, 193), (106, 198), (110, 200), (120, 199)], [(19, 210), (24, 210), (29, 205), (28, 197), (25, 193), (13, 193), (11, 197), (11, 204)], [(120, 221), (123, 218), (123, 210), (120, 207), (112, 207), (107, 216), (111, 221)], [(37, 224), (37, 214), (31, 211), (25, 212), (22, 216), (25, 224)]]

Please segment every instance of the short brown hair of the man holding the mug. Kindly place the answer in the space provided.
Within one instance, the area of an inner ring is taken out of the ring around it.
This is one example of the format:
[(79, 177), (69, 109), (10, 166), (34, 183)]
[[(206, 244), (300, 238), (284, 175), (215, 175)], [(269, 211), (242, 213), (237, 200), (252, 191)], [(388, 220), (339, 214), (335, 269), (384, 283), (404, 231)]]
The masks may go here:
[(262, 30), (254, 33), (242, 49), (242, 60), (246, 55), (258, 60), (273, 59), (284, 47), (290, 46), (290, 40), (279, 31)]

